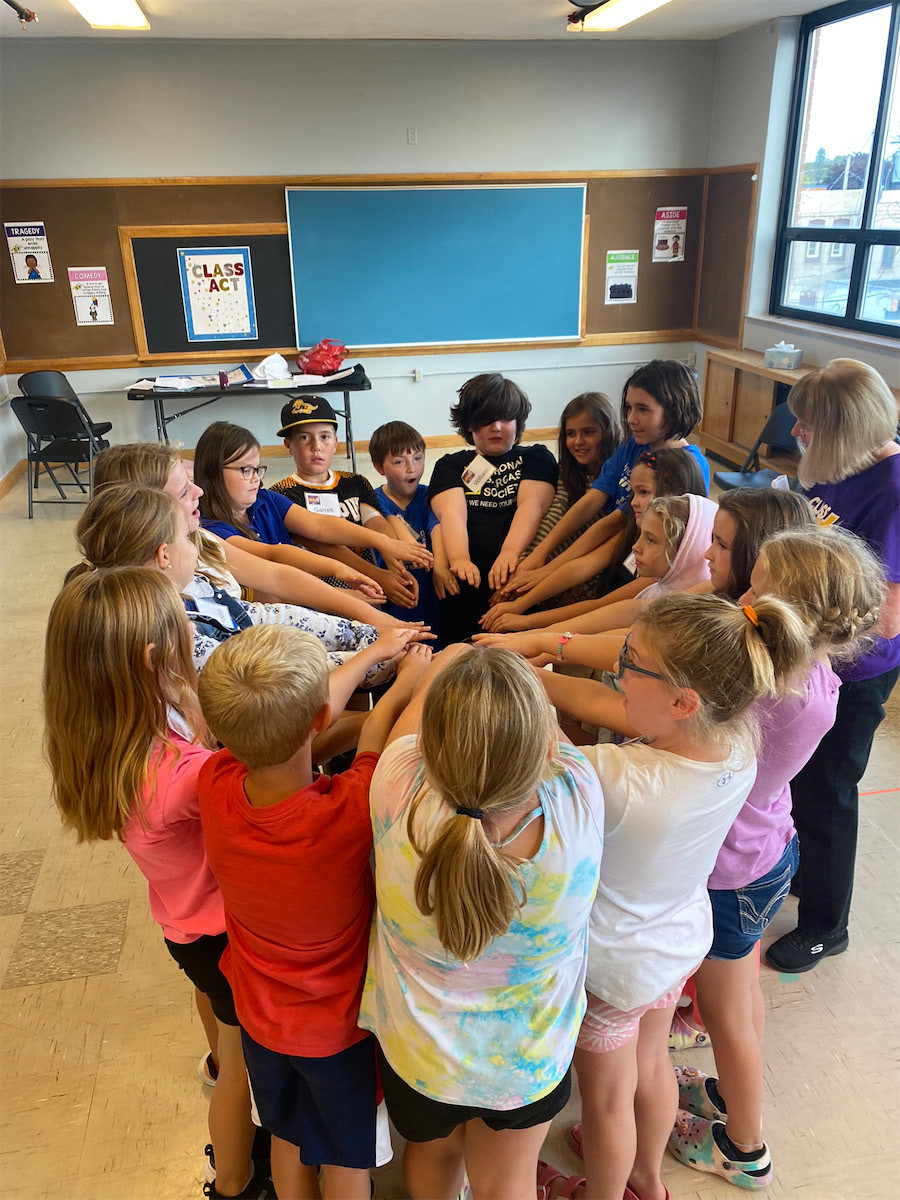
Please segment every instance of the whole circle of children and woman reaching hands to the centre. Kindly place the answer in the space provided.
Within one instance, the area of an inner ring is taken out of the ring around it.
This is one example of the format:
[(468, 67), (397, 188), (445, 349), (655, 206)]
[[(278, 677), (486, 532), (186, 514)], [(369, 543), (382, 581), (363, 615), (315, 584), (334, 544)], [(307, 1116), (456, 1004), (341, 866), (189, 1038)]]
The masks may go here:
[[(318, 397), (286, 404), (271, 488), (227, 422), (193, 475), (169, 445), (100, 456), (47, 754), (194, 984), (206, 1195), (367, 1200), (385, 1106), (420, 1200), (664, 1200), (666, 1147), (770, 1183), (758, 944), (796, 876), (769, 961), (846, 949), (900, 664), (894, 397), (835, 360), (788, 403), (804, 491), (718, 505), (664, 360), (565, 407), (558, 467), (499, 374), (460, 389), (467, 445), (427, 487), (402, 422), (377, 493), (334, 472)], [(714, 1075), (673, 1067), (704, 1043)], [(539, 1160), (572, 1067), (583, 1177)]]

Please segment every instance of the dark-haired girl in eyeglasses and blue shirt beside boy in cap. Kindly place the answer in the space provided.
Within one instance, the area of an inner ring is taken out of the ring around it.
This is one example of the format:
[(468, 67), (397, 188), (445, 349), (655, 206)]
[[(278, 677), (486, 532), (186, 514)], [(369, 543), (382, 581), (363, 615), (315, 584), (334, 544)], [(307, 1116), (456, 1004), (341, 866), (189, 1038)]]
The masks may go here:
[(425, 546), (374, 533), (343, 517), (307, 512), (286, 496), (266, 491), (259, 443), (240, 425), (214, 421), (204, 430), (194, 451), (193, 470), (197, 485), (203, 488), (203, 528), (244, 550), (252, 551), (258, 541), (290, 545), (294, 539), (330, 546), (367, 546), (377, 550), (388, 569), (404, 581), (413, 578), (406, 563), (432, 564)]

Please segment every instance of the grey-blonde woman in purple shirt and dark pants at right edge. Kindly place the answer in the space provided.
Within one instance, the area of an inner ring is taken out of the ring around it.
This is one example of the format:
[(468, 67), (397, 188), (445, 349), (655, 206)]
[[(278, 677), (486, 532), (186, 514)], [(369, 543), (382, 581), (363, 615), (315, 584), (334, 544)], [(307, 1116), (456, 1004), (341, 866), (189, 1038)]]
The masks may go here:
[(877, 371), (834, 359), (787, 398), (793, 436), (805, 449), (799, 479), (820, 524), (863, 538), (882, 563), (887, 596), (871, 650), (841, 677), (838, 716), (792, 780), (800, 839), (796, 930), (767, 953), (779, 971), (809, 971), (846, 950), (859, 793), (875, 731), (900, 674), (900, 445), (896, 400)]

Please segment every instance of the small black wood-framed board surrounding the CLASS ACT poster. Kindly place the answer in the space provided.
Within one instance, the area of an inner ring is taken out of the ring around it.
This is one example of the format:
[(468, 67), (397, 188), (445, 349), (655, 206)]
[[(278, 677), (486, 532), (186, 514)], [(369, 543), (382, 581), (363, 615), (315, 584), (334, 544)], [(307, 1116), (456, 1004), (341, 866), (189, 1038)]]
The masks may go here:
[[(178, 250), (185, 246), (248, 246), (259, 336), (222, 342), (188, 342)], [(288, 242), (284, 234), (226, 234), (224, 236), (133, 238), (134, 271), (150, 354), (197, 354), (198, 350), (238, 350), (294, 342)]]

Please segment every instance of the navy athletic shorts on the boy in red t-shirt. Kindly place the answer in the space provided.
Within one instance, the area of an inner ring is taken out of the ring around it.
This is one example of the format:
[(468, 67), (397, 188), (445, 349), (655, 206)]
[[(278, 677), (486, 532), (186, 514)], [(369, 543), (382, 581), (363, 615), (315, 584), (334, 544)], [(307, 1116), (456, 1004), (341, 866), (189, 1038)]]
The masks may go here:
[(241, 1034), (264, 1129), (299, 1146), (307, 1166), (376, 1165), (378, 1075), (371, 1033), (325, 1058), (278, 1054), (246, 1030)]

